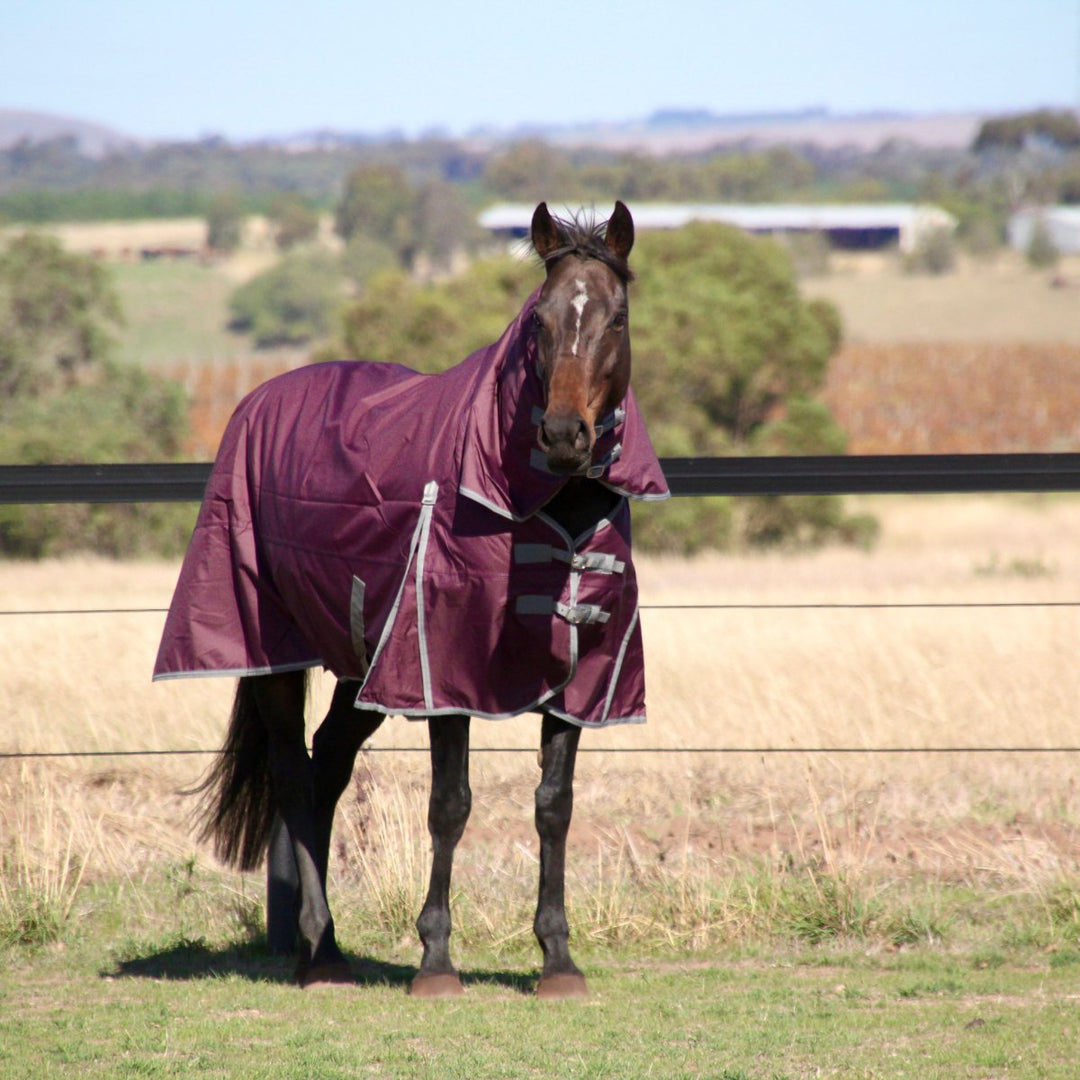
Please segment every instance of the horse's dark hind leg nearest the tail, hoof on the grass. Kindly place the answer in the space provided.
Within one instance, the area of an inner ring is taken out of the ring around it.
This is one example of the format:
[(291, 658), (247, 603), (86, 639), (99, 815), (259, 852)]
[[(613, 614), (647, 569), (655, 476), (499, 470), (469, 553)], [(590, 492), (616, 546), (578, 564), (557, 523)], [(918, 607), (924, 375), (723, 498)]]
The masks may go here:
[(334, 936), (326, 904), (321, 845), (314, 812), (314, 768), (303, 738), (306, 679), (302, 672), (260, 675), (253, 679), (255, 701), (269, 734), (274, 800), (293, 841), (300, 879), (300, 960), (297, 981), (345, 982), (350, 977)]

